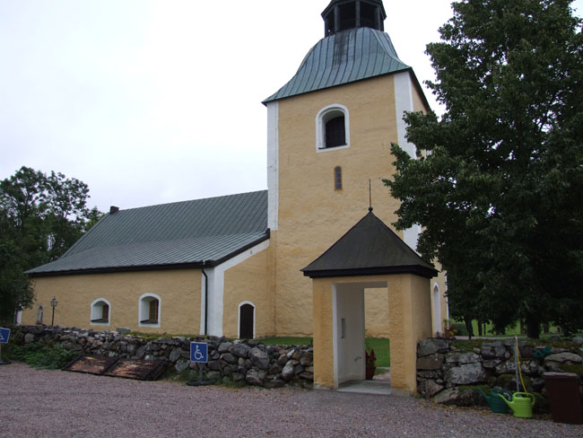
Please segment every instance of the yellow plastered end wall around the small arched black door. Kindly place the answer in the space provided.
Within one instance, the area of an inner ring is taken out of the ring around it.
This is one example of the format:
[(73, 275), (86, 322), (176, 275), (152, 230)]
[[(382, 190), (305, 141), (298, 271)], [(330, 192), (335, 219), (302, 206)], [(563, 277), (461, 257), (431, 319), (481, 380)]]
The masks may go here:
[(255, 305), (255, 336), (274, 334), (273, 250), (262, 250), (224, 274), (223, 335), (239, 336), (239, 304)]

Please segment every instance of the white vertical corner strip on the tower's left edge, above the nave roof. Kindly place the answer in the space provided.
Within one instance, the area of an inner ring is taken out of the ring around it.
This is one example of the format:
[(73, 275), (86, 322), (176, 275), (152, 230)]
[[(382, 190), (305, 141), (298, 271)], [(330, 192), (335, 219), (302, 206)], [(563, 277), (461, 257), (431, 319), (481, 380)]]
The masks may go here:
[(277, 230), (279, 207), (279, 102), (267, 103), (267, 227)]

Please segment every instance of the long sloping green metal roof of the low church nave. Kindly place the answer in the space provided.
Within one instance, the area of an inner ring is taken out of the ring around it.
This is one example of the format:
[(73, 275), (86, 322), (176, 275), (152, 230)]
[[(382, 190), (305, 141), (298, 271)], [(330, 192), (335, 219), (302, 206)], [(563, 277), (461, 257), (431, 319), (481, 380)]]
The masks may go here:
[(63, 257), (32, 276), (215, 266), (269, 238), (267, 191), (106, 215)]

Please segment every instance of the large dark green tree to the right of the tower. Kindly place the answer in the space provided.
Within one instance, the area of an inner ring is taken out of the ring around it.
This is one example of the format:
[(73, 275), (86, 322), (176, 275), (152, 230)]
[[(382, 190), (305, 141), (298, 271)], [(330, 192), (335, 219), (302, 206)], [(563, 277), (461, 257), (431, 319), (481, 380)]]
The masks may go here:
[(448, 271), (457, 317), (583, 327), (583, 38), (570, 0), (465, 0), (427, 46), (445, 113), (409, 113), (396, 226)]

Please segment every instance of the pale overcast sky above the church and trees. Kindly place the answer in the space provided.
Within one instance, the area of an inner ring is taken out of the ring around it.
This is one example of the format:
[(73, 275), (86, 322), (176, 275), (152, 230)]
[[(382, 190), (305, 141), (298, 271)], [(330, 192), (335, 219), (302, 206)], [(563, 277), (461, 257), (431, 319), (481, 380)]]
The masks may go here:
[[(266, 188), (261, 101), (324, 36), (327, 4), (0, 0), (0, 180), (60, 171), (104, 212)], [(384, 4), (397, 54), (431, 80), (450, 1)]]

